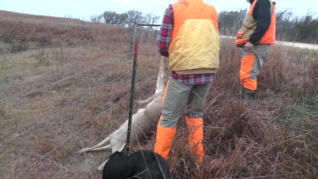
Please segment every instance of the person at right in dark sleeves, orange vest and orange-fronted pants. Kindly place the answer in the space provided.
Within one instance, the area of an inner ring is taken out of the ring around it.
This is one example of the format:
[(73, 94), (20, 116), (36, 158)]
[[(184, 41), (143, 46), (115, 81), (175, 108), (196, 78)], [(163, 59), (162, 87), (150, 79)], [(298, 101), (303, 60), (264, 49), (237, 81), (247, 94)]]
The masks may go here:
[(247, 0), (251, 6), (237, 33), (235, 44), (243, 48), (239, 71), (241, 99), (255, 97), (257, 75), (263, 59), (268, 57), (270, 45), (275, 44), (275, 2), (271, 0)]

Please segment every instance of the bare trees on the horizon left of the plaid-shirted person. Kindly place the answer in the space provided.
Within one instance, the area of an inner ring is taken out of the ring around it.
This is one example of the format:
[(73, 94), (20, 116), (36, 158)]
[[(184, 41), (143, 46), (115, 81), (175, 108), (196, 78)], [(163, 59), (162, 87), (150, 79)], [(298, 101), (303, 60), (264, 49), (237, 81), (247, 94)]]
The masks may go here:
[(97, 23), (106, 23), (119, 26), (132, 26), (138, 24), (155, 24), (160, 19), (160, 16), (153, 13), (143, 13), (139, 10), (129, 10), (124, 13), (117, 13), (111, 10), (105, 11), (102, 14), (91, 15), (90, 21)]

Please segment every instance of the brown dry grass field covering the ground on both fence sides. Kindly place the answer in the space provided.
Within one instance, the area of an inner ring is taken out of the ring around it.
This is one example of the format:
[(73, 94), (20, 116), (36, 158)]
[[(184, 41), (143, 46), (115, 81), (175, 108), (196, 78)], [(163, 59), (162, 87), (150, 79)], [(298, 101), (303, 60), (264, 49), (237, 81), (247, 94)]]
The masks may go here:
[[(99, 179), (96, 168), (110, 152), (76, 151), (128, 118), (130, 29), (7, 11), (0, 17), (0, 103), (104, 64), (0, 106), (0, 178)], [(141, 31), (135, 102), (154, 93), (159, 71), (154, 31)], [(273, 45), (257, 100), (240, 102), (240, 49), (233, 39), (221, 46), (205, 105), (205, 162), (191, 155), (182, 116), (170, 177), (317, 179), (318, 51)], [(132, 149), (152, 150), (155, 132)]]

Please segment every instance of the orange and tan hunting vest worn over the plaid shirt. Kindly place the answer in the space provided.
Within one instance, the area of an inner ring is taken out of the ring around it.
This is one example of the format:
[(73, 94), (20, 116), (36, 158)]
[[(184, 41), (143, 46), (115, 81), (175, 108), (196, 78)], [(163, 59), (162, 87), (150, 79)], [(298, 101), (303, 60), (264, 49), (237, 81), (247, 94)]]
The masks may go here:
[(202, 0), (172, 3), (174, 23), (169, 45), (169, 69), (218, 69), (220, 34), (218, 13)]

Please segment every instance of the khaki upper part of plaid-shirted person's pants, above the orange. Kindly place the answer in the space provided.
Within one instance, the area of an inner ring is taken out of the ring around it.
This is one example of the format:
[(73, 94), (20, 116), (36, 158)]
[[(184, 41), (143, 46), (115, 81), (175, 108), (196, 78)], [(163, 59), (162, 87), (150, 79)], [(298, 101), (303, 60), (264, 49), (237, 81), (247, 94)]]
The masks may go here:
[(203, 106), (212, 82), (203, 85), (185, 85), (169, 77), (165, 96), (162, 101), (160, 125), (175, 128), (181, 116), (183, 106), (189, 118), (202, 118)]

